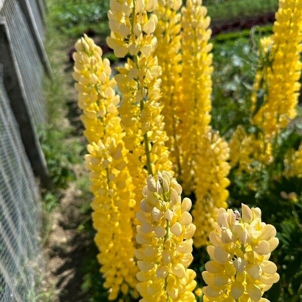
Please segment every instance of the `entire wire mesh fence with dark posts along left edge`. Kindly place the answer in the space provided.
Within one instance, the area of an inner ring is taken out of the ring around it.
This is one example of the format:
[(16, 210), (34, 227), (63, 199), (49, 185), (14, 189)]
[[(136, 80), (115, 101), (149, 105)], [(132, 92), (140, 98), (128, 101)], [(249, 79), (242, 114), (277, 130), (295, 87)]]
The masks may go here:
[(32, 150), (41, 154), (37, 129), (46, 121), (43, 58), (34, 36), (44, 38), (37, 0), (0, 0), (0, 25), (0, 301), (32, 302), (39, 300), (44, 275), (41, 204), (32, 171), (43, 164)]

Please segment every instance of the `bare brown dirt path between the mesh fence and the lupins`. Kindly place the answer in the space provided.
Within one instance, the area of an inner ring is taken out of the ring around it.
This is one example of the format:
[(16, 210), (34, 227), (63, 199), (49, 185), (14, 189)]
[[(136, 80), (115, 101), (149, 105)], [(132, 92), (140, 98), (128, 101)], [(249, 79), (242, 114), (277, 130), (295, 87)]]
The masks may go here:
[(81, 292), (82, 266), (92, 248), (93, 234), (81, 230), (83, 222), (90, 218), (83, 213), (82, 206), (81, 191), (71, 183), (53, 214), (45, 252), (47, 279), (55, 288), (55, 302), (85, 301)]

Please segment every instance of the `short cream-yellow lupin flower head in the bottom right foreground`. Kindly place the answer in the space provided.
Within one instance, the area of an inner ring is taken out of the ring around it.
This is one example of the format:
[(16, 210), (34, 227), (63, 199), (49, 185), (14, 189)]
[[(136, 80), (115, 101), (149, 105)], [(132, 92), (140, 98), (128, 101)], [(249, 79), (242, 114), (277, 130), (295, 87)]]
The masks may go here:
[(279, 280), (270, 253), (279, 241), (276, 229), (261, 221), (261, 210), (242, 204), (242, 213), (219, 209), (216, 229), (210, 233), (202, 277), (203, 301), (265, 302), (263, 293)]

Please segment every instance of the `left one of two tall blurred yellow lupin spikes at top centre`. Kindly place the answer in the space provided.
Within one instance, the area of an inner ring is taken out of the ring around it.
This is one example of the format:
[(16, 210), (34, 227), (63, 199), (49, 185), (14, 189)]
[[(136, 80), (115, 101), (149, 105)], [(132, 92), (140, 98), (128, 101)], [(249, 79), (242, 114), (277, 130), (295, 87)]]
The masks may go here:
[(162, 114), (165, 121), (165, 130), (169, 137), (167, 146), (170, 150), (170, 159), (176, 176), (181, 174), (180, 163), (180, 104), (182, 103), (181, 90), (181, 14), (179, 9), (181, 0), (159, 0), (155, 11), (158, 25), (155, 35), (158, 47), (155, 54), (162, 67), (162, 98), (164, 105)]

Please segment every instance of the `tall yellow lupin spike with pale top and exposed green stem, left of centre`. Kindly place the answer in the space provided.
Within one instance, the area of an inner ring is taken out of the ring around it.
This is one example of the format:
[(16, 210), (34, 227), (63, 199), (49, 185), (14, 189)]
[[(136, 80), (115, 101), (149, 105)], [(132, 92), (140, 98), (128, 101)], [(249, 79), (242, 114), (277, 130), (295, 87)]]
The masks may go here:
[[(136, 196), (145, 177), (155, 171), (171, 171), (168, 136), (161, 114), (161, 67), (155, 56), (158, 23), (152, 13), (156, 0), (111, 0), (108, 13), (111, 35), (108, 45), (118, 57), (129, 55), (115, 76), (122, 99), (119, 107), (123, 138), (128, 153), (128, 170)], [(137, 206), (139, 200), (136, 199)]]

